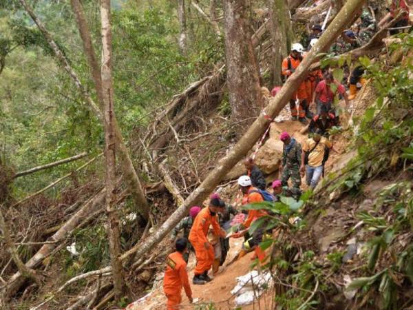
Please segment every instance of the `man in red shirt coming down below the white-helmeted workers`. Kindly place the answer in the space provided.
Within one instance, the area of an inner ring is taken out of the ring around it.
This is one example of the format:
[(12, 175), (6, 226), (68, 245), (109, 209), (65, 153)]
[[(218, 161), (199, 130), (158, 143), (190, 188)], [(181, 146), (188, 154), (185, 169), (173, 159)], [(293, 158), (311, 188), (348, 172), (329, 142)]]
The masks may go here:
[[(331, 90), (330, 85), (332, 83), (337, 86), (335, 93), (333, 93)], [(335, 80), (330, 72), (326, 72), (324, 74), (324, 80), (320, 81), (317, 84), (317, 87), (315, 87), (315, 92), (313, 94), (312, 104), (317, 104), (317, 114), (321, 113), (321, 106), (323, 105), (326, 105), (329, 112), (334, 113), (332, 104), (334, 103), (335, 94), (337, 94), (337, 92), (343, 96), (344, 100), (346, 101), (346, 106), (348, 106), (349, 103), (346, 88), (341, 83), (339, 83), (339, 81)]]

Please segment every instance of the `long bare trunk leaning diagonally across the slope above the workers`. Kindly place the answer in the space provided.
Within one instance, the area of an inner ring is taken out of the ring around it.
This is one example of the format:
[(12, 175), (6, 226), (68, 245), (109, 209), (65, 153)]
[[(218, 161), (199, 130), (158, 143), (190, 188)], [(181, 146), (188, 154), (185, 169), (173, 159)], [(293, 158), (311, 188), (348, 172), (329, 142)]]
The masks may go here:
[[(316, 43), (314, 48), (310, 50), (304, 60), (301, 62), (297, 70), (288, 78), (282, 89), (278, 94), (271, 99), (266, 107), (266, 114), (274, 118), (288, 103), (293, 93), (297, 91), (297, 87), (301, 81), (305, 79), (308, 74), (311, 63), (317, 60), (317, 55), (325, 52), (330, 48), (332, 42), (339, 37), (341, 32), (348, 26), (348, 19), (352, 18), (357, 10), (360, 10), (366, 3), (366, 0), (348, 0), (343, 6), (339, 14), (330, 23), (327, 30), (321, 35), (321, 38)], [(268, 120), (263, 114), (255, 120), (253, 125), (248, 128), (248, 131), (240, 138), (240, 141), (230, 150), (226, 156), (218, 161), (215, 169), (211, 171), (204, 181), (198, 186), (191, 195), (185, 199), (184, 203), (153, 233), (145, 243), (138, 244), (129, 249), (122, 256), (121, 260), (126, 260), (129, 256), (136, 254), (142, 256), (147, 254), (154, 246), (156, 246), (179, 221), (187, 216), (189, 208), (193, 205), (198, 205), (213, 192), (213, 189), (220, 184), (220, 181), (226, 174), (238, 163), (248, 151), (255, 145), (255, 142), (264, 134), (266, 127), (268, 127)]]

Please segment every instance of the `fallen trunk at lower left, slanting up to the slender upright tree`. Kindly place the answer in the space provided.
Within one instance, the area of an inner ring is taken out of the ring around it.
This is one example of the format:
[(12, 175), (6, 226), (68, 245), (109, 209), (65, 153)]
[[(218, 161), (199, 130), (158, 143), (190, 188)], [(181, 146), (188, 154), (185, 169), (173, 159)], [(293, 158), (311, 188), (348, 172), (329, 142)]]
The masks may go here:
[[(96, 211), (98, 206), (102, 205), (105, 202), (105, 189), (101, 189), (98, 194), (87, 200), (87, 202), (79, 209), (70, 220), (68, 220), (65, 225), (63, 225), (56, 233), (50, 238), (51, 241), (55, 241), (54, 243), (50, 243), (47, 245), (43, 245), (39, 251), (37, 251), (25, 265), (30, 268), (36, 268), (44, 258), (50, 254), (58, 245), (59, 242), (65, 240), (68, 236), (70, 236), (74, 229), (82, 223), (85, 216), (87, 214)], [(5, 288), (4, 296), (5, 298), (10, 298), (14, 296), (17, 291), (19, 291), (20, 287), (25, 283), (25, 278), (21, 276), (20, 272), (14, 273), (14, 275), (8, 280), (8, 284)]]

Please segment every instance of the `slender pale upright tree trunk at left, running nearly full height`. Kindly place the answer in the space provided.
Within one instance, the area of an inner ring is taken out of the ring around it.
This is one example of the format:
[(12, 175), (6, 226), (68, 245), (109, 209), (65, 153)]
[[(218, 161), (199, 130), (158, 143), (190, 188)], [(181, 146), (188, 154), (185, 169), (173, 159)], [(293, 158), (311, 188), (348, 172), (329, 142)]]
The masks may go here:
[(114, 136), (114, 88), (112, 83), (112, 29), (110, 21), (110, 0), (100, 0), (100, 22), (102, 27), (102, 91), (105, 111), (105, 159), (106, 159), (106, 212), (109, 252), (114, 280), (116, 302), (124, 292), (123, 268), (119, 260), (120, 231), (119, 215), (116, 209), (116, 158)]

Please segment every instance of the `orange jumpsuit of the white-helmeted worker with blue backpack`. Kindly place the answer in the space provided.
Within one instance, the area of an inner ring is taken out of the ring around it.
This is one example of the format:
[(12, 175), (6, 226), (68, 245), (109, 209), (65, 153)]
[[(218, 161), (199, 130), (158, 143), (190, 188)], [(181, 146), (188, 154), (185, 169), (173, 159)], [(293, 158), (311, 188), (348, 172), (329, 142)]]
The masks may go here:
[[(255, 192), (255, 191), (257, 191), (257, 189), (255, 187), (251, 187), (251, 189), (248, 190), (248, 194), (244, 195), (243, 203), (244, 202), (245, 203), (261, 203), (262, 201), (264, 201), (264, 198), (262, 198), (262, 195), (259, 192)], [(266, 215), (267, 213), (265, 210), (248, 210), (248, 216), (246, 217), (246, 220), (244, 222), (244, 227), (246, 228), (250, 227), (251, 223), (257, 220), (257, 218), (261, 218), (262, 216), (266, 216)], [(263, 251), (258, 246), (258, 244), (262, 241), (262, 233), (259, 232), (259, 229), (254, 231), (252, 238), (253, 238), (253, 242), (255, 243), (255, 247), (254, 247), (255, 256), (258, 258), (258, 260), (260, 260), (260, 262), (263, 262), (265, 260), (266, 254), (265, 254), (265, 251)]]

